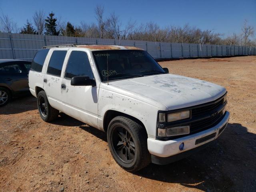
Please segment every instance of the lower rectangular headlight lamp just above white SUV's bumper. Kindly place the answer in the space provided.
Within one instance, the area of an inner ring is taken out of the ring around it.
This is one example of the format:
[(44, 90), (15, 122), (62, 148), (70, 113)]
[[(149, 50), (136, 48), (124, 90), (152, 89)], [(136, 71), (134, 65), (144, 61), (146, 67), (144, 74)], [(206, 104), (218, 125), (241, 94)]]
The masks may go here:
[(190, 132), (189, 126), (172, 127), (167, 129), (158, 128), (157, 135), (160, 137), (166, 137), (166, 136), (168, 137), (168, 136), (189, 134), (189, 132)]

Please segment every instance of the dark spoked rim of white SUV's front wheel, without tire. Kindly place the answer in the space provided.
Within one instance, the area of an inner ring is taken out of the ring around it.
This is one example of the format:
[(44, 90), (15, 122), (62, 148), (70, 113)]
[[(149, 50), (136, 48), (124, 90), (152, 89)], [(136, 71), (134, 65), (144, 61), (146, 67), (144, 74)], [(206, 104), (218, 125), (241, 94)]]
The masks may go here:
[(112, 135), (112, 146), (115, 154), (125, 163), (130, 163), (135, 157), (135, 145), (131, 134), (126, 128), (117, 126)]

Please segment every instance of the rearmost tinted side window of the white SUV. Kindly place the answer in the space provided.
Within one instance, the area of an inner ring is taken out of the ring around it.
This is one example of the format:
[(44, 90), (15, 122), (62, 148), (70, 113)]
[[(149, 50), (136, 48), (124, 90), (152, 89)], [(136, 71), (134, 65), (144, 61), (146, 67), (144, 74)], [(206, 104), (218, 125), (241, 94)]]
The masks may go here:
[(42, 72), (44, 60), (45, 60), (49, 50), (50, 49), (41, 49), (36, 53), (32, 63), (31, 63), (30, 70)]

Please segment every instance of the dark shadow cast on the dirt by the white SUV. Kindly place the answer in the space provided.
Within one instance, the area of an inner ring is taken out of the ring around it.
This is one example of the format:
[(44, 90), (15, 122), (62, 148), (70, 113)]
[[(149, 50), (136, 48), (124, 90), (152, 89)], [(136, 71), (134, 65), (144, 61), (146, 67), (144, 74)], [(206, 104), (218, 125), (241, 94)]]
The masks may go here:
[[(54, 124), (79, 126), (107, 142), (106, 133), (62, 114)], [(162, 183), (178, 183), (202, 191), (253, 191), (256, 187), (256, 134), (229, 123), (204, 150), (168, 165), (150, 164), (133, 173)]]

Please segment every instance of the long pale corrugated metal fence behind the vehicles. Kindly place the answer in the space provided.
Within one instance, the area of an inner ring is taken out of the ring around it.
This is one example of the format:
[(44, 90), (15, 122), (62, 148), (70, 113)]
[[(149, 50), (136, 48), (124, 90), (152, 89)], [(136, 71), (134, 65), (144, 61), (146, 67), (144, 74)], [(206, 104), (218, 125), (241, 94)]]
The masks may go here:
[(191, 58), (211, 56), (256, 55), (255, 47), (166, 43), (100, 38), (81, 38), (30, 34), (0, 33), (0, 59), (32, 60), (43, 46), (57, 44), (99, 44), (136, 46), (148, 51), (154, 58)]

